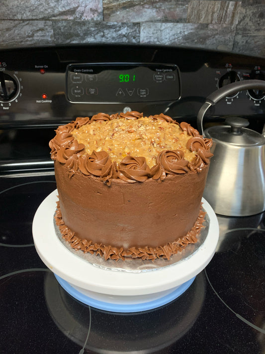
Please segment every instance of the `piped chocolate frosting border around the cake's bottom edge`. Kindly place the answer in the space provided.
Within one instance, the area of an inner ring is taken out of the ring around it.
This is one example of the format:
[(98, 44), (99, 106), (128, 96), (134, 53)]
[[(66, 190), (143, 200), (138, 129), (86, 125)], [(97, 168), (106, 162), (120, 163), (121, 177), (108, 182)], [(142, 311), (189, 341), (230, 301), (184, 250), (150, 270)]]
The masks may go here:
[(158, 247), (130, 247), (124, 250), (122, 247), (117, 248), (112, 245), (104, 245), (102, 243), (92, 243), (92, 240), (81, 239), (76, 236), (76, 233), (71, 231), (62, 219), (60, 202), (57, 201), (57, 209), (55, 213), (55, 222), (59, 228), (61, 236), (69, 242), (75, 250), (82, 250), (84, 253), (90, 253), (104, 257), (105, 260), (112, 259), (118, 261), (140, 258), (142, 260), (155, 260), (157, 258), (170, 259), (170, 257), (178, 252), (181, 252), (188, 244), (194, 244), (198, 240), (201, 229), (204, 228), (204, 220), (206, 213), (203, 211), (202, 203), (198, 218), (191, 230), (182, 238), (174, 242), (167, 243)]

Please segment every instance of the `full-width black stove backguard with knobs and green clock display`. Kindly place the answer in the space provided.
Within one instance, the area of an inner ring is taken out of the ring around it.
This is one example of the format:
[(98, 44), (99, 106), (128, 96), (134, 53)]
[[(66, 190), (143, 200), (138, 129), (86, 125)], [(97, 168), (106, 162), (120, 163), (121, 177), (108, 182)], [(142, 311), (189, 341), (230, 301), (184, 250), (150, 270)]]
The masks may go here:
[[(164, 113), (196, 124), (205, 99), (240, 80), (265, 80), (265, 58), (198, 48), (66, 45), (0, 50), (0, 129), (56, 127), (103, 112)], [(265, 92), (212, 106), (204, 121), (265, 122)]]

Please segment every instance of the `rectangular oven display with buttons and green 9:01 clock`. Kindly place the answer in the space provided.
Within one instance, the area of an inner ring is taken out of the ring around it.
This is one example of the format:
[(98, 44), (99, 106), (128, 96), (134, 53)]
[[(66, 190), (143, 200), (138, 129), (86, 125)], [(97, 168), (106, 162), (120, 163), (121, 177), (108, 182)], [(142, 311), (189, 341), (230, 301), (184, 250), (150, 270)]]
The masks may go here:
[(174, 64), (70, 64), (67, 96), (73, 103), (176, 101), (179, 71)]

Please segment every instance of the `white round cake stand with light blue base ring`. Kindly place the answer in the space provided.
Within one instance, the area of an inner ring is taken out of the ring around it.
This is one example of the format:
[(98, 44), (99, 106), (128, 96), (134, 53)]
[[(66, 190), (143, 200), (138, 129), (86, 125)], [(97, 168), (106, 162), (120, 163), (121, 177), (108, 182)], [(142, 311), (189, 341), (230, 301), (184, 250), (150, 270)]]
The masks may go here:
[(219, 225), (202, 199), (209, 230), (202, 245), (191, 256), (152, 271), (127, 272), (97, 267), (79, 257), (59, 240), (54, 227), (57, 190), (44, 199), (32, 225), (36, 250), (62, 287), (79, 301), (112, 312), (139, 312), (160, 307), (176, 299), (214, 255)]

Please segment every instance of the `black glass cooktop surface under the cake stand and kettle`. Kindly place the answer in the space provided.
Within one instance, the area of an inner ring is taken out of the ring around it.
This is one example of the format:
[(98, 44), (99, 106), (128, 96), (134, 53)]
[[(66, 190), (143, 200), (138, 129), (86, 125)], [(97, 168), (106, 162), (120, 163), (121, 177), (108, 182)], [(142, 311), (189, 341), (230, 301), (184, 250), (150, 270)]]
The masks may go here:
[(265, 214), (218, 217), (208, 266), (176, 300), (117, 314), (69, 295), (39, 258), (32, 219), (53, 175), (0, 178), (0, 354), (265, 353)]

